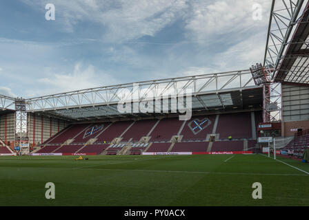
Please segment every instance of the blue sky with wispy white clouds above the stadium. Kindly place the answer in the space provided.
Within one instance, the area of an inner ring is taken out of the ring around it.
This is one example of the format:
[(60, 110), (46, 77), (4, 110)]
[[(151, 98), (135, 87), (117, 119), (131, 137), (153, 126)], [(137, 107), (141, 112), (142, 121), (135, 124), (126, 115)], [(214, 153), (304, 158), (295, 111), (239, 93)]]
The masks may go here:
[[(55, 20), (46, 20), (46, 4)], [(253, 19), (253, 5), (261, 19)], [(0, 1), (0, 94), (32, 98), (263, 62), (269, 0)]]

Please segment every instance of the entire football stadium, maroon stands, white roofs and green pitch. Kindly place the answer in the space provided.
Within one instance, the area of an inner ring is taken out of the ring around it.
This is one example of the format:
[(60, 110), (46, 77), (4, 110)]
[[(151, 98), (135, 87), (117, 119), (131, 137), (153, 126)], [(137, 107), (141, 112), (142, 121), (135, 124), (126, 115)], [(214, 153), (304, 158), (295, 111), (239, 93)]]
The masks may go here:
[(244, 69), (1, 95), (0, 206), (308, 206), (309, 2), (268, 11)]

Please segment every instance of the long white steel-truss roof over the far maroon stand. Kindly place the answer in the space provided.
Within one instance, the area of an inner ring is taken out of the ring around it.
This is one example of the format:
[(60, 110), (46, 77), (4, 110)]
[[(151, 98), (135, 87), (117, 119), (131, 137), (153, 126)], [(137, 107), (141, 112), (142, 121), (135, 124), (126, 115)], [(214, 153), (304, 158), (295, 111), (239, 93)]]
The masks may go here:
[[(29, 98), (26, 99), (26, 108), (28, 112), (71, 121), (152, 117), (168, 114), (163, 113), (163, 107), (169, 109), (170, 112), (171, 98), (167, 96), (170, 92), (179, 95), (181, 91), (188, 91), (188, 89), (192, 91), (190, 94), (192, 111), (260, 109), (263, 99), (261, 87), (255, 85), (250, 70), (246, 69), (126, 83)], [(148, 101), (148, 104), (152, 104), (152, 109), (157, 108), (156, 102), (148, 95), (155, 94), (156, 99), (159, 97), (161, 111), (159, 113), (133, 111), (120, 113), (117, 104), (121, 100), (121, 95), (134, 96), (137, 91), (139, 91), (137, 93), (139, 102)], [(169, 101), (165, 102), (164, 100)]]

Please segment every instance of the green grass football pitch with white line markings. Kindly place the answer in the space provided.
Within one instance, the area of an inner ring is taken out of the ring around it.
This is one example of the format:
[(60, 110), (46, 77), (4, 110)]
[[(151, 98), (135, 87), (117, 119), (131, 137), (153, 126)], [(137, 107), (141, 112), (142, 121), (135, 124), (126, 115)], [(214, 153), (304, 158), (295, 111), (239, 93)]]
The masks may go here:
[[(309, 175), (263, 155), (74, 158), (0, 157), (0, 206), (309, 205)], [(278, 159), (309, 172), (309, 164)], [(45, 198), (49, 181), (53, 200)], [(263, 199), (252, 199), (254, 182)]]

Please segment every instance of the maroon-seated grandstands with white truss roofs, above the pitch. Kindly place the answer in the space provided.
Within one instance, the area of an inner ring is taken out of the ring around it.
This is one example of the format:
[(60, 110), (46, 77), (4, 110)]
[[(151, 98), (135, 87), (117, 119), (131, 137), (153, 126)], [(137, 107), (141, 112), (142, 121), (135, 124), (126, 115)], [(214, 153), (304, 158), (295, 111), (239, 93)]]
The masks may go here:
[[(0, 96), (0, 155), (257, 153), (268, 144), (261, 137), (299, 153), (309, 146), (308, 9), (306, 1), (283, 8), (273, 1), (263, 65), (250, 69)], [(185, 113), (172, 105), (188, 89), (192, 117), (179, 120)], [(137, 98), (122, 106), (147, 102), (152, 111), (119, 111), (121, 91)]]

